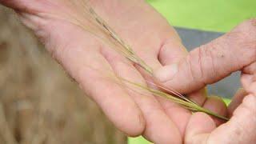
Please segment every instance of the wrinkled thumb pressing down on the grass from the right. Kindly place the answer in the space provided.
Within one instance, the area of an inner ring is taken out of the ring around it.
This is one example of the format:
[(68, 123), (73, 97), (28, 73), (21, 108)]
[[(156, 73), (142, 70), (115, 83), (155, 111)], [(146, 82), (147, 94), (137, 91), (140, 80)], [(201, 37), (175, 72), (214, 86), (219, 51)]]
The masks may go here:
[(178, 64), (163, 66), (154, 76), (180, 93), (199, 90), (256, 60), (256, 19), (192, 50)]

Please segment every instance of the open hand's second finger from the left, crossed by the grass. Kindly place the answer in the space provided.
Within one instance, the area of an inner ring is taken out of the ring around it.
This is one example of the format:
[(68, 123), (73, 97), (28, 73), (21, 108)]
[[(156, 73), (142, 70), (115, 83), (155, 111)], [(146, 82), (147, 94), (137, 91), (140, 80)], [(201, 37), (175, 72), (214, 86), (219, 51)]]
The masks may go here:
[[(130, 82), (146, 86), (146, 81), (131, 62), (117, 54), (113, 50), (102, 50), (106, 60), (110, 62), (112, 69), (119, 78), (125, 78)], [(151, 142), (156, 143), (181, 143), (181, 136), (174, 122), (166, 115), (157, 99), (147, 90), (123, 82), (134, 102), (142, 110), (146, 127), (143, 135)]]

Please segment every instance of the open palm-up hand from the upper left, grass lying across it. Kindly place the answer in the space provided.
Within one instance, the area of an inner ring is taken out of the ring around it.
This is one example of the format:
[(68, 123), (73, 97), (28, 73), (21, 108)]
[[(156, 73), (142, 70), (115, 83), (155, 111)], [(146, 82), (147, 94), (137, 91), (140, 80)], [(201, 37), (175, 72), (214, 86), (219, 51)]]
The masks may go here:
[[(153, 95), (124, 89), (118, 85), (117, 78), (109, 77), (108, 73), (112, 71), (119, 77), (146, 85), (142, 74), (131, 62), (119, 56), (97, 35), (76, 25), (74, 18), (82, 21), (84, 26), (90, 26), (83, 15), (82, 0), (0, 2), (13, 8), (22, 22), (34, 30), (50, 54), (98, 103), (118, 129), (130, 136), (143, 134), (155, 143), (182, 142), (190, 112)], [(186, 54), (175, 31), (146, 2), (94, 0), (90, 3), (154, 70)], [(97, 30), (94, 32), (98, 33)], [(158, 61), (158, 55), (161, 61)], [(164, 55), (172, 58), (166, 59)]]

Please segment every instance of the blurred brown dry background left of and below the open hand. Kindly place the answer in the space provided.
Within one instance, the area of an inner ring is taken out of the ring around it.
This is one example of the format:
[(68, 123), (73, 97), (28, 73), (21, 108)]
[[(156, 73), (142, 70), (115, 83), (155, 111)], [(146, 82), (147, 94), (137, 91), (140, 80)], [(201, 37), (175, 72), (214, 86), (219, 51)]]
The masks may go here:
[(37, 38), (0, 6), (0, 144), (126, 143)]

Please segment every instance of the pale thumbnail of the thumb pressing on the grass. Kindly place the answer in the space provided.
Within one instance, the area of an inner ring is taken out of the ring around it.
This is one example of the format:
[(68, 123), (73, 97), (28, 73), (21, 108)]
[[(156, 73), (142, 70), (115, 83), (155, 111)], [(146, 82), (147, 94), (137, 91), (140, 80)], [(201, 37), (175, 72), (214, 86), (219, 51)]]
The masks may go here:
[(178, 72), (178, 64), (174, 63), (172, 65), (163, 66), (154, 72), (154, 77), (160, 82), (170, 81), (174, 75)]

